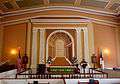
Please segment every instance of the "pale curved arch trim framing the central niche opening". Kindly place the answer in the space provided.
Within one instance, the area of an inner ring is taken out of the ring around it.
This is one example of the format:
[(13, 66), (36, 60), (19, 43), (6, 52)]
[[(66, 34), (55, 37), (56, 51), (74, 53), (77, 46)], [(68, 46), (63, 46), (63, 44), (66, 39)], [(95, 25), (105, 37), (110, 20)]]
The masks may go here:
[(49, 39), (50, 39), (50, 37), (52, 36), (52, 35), (54, 35), (54, 34), (56, 34), (56, 33), (58, 33), (58, 32), (62, 32), (62, 33), (65, 33), (65, 34), (67, 34), (70, 38), (71, 38), (71, 41), (72, 41), (72, 57), (74, 57), (74, 53), (75, 53), (75, 51), (74, 51), (74, 39), (73, 39), (73, 36), (69, 33), (69, 32), (67, 32), (67, 31), (65, 31), (65, 30), (56, 30), (56, 31), (53, 31), (48, 37), (47, 37), (47, 42), (46, 42), (46, 60), (47, 60), (47, 58), (48, 58), (48, 42), (49, 42)]

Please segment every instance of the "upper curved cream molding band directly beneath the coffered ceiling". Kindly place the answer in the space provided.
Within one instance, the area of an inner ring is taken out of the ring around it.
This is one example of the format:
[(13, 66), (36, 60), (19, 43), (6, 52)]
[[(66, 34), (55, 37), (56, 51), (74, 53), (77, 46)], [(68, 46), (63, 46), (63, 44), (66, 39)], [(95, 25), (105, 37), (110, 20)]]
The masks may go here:
[(80, 8), (80, 7), (73, 7), (73, 6), (45, 6), (45, 7), (6, 12), (6, 13), (3, 13), (3, 16), (6, 16), (6, 17), (15, 16), (15, 15), (35, 13), (35, 12), (41, 12), (41, 11), (47, 11), (47, 10), (71, 10), (71, 11), (78, 11), (78, 12), (84, 12), (84, 13), (90, 13), (90, 14), (96, 14), (96, 15), (102, 15), (102, 16), (110, 16), (110, 17), (115, 17), (117, 15), (117, 13)]

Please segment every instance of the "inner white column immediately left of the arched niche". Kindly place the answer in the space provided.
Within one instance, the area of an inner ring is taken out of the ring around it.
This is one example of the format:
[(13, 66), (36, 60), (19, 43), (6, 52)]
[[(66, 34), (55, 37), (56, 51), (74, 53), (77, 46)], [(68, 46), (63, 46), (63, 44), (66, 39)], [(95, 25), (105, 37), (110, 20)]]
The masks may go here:
[(40, 64), (44, 64), (45, 57), (45, 29), (40, 29)]

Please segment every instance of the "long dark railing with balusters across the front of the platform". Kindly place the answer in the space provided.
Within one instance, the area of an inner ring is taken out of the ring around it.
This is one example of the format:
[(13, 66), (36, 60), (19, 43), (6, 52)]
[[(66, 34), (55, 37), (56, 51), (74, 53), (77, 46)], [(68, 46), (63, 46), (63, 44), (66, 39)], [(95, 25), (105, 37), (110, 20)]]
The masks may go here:
[[(33, 69), (36, 71), (35, 69)], [(88, 73), (45, 73), (36, 74), (32, 69), (25, 72), (17, 73), (19, 79), (80, 79), (80, 78), (108, 78), (108, 73), (90, 68)]]

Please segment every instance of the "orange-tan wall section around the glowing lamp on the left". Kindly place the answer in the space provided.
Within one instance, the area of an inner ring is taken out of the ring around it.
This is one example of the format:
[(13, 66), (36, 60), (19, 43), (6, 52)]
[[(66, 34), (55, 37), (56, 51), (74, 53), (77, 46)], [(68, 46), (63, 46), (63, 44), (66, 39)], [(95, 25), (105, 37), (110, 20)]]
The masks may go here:
[(26, 24), (16, 24), (4, 27), (4, 45), (3, 55), (8, 56), (11, 63), (16, 63), (16, 55), (11, 55), (12, 49), (18, 49), (21, 47), (21, 55), (24, 55), (25, 49), (25, 28)]

